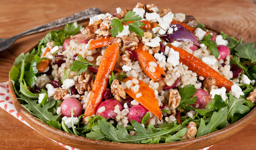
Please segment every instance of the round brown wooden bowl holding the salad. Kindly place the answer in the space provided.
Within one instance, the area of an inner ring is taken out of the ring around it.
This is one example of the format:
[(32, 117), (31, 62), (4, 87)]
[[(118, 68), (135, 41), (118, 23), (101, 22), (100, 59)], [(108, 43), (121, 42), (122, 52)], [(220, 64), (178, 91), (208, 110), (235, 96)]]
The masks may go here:
[[(38, 43), (31, 45), (26, 51), (31, 51), (36, 47)], [(231, 126), (218, 130), (216, 132), (210, 133), (208, 135), (201, 136), (199, 138), (194, 138), (185, 141), (177, 141), (173, 143), (163, 143), (163, 144), (127, 144), (127, 143), (114, 143), (107, 141), (99, 141), (90, 138), (84, 138), (77, 135), (72, 135), (70, 133), (55, 129), (52, 126), (46, 125), (40, 120), (37, 120), (32, 114), (27, 112), (21, 104), (18, 102), (12, 81), (9, 78), (9, 92), (12, 98), (13, 105), (15, 106), (21, 117), (43, 135), (52, 138), (55, 141), (61, 142), (63, 144), (69, 145), (71, 147), (76, 147), (83, 150), (198, 150), (210, 145), (219, 143), (232, 135), (235, 135), (245, 126), (247, 126), (256, 117), (256, 108), (254, 108), (249, 114), (238, 120)]]

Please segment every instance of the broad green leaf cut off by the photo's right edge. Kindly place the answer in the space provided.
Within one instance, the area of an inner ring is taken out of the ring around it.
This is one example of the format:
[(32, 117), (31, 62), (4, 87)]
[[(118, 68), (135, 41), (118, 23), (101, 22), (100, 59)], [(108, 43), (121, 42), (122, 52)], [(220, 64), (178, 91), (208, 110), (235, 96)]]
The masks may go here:
[(256, 63), (256, 49), (253, 42), (238, 44), (235, 48), (235, 53), (238, 57), (251, 60), (251, 63)]

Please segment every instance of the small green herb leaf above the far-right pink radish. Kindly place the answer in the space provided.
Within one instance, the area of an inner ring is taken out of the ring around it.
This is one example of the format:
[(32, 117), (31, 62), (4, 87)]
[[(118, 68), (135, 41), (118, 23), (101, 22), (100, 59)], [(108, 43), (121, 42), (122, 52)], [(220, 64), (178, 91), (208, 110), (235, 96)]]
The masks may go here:
[(203, 43), (204, 45), (206, 45), (210, 49), (210, 51), (213, 53), (213, 55), (216, 58), (218, 58), (219, 50), (217, 49), (217, 44), (213, 40), (210, 40), (210, 38), (211, 38), (211, 35), (208, 34), (207, 36), (204, 36), (204, 38), (202, 39), (202, 41), (200, 43), (201, 44)]

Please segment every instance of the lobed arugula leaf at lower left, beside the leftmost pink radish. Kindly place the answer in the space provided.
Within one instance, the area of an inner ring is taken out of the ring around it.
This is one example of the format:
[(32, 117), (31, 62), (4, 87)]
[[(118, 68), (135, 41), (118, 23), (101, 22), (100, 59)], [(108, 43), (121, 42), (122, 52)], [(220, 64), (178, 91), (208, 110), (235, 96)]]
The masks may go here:
[(43, 107), (37, 103), (37, 101), (28, 99), (26, 96), (21, 95), (21, 100), (27, 102), (27, 104), (22, 105), (23, 108), (29, 110), (31, 114), (38, 117), (44, 123), (47, 123), (47, 120), (56, 121), (61, 114), (53, 116), (51, 112), (48, 111), (49, 108), (52, 108), (55, 105), (55, 99), (49, 100)]

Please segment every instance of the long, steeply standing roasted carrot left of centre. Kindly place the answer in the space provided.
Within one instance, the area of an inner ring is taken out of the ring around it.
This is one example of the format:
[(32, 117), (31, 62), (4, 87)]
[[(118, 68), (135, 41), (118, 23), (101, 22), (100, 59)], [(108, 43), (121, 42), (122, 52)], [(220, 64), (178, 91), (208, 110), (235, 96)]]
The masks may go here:
[(85, 116), (91, 116), (96, 114), (98, 105), (101, 103), (103, 92), (107, 88), (108, 76), (114, 69), (116, 60), (119, 54), (119, 46), (117, 44), (111, 44), (107, 47), (105, 53), (102, 56), (101, 64), (99, 66), (96, 78), (91, 90), (91, 96), (87, 102), (85, 108)]

